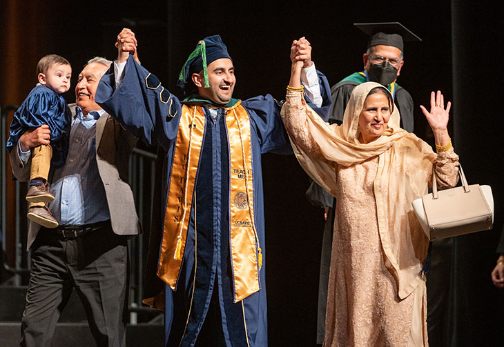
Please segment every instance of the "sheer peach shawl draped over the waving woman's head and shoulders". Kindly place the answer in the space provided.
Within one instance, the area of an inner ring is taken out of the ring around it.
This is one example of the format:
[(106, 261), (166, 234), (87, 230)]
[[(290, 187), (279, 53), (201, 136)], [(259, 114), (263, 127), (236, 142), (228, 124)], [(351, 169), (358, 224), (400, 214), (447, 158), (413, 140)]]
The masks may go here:
[(429, 244), (411, 201), (427, 193), (436, 154), (427, 143), (399, 127), (395, 106), (382, 136), (367, 144), (358, 141), (364, 101), (379, 86), (369, 82), (353, 89), (341, 126), (322, 121), (306, 105), (302, 92), (287, 91), (281, 114), (302, 168), (334, 196), (338, 166), (379, 157), (374, 179), (378, 230), (398, 295), (404, 299), (422, 281), (420, 270)]

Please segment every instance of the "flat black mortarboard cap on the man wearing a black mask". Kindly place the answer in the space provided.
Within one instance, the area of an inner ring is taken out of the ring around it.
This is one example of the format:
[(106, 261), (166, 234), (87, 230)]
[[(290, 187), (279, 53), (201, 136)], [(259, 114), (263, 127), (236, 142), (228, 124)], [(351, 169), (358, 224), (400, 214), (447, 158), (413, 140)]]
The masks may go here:
[(404, 51), (403, 41), (422, 41), (398, 21), (387, 23), (353, 23), (369, 36), (367, 48), (378, 45), (392, 46)]

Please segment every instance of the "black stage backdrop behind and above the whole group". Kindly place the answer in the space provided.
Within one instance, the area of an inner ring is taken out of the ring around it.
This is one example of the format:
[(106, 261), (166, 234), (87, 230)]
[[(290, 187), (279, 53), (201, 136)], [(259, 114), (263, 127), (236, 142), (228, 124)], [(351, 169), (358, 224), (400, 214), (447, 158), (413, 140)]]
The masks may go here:
[[(503, 7), (476, 1), (15, 1), (1, 2), (0, 103), (21, 103), (35, 85), (35, 66), (56, 53), (72, 63), (72, 88), (97, 55), (114, 59), (119, 31), (135, 31), (139, 57), (176, 95), (175, 81), (198, 40), (220, 34), (236, 68), (235, 97), (284, 96), (289, 48), (306, 36), (331, 86), (362, 69), (367, 37), (356, 22), (400, 21), (423, 39), (405, 44), (398, 83), (412, 95), (415, 132), (432, 143), (418, 108), (429, 92), (452, 100), (450, 129), (469, 184), (490, 184), (496, 206), (491, 232), (455, 239), (446, 274), (452, 346), (502, 346), (504, 290), (492, 286), (503, 224)], [(69, 102), (75, 97), (70, 91)], [(304, 199), (309, 182), (295, 158), (264, 155), (266, 283), (271, 346), (313, 346), (322, 241), (322, 210)]]

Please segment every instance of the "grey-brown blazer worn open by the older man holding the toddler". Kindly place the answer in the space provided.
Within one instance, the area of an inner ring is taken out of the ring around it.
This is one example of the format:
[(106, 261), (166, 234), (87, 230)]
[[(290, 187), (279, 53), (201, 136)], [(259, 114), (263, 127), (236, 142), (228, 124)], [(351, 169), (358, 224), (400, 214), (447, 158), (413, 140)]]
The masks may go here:
[[(69, 105), (75, 117), (75, 103)], [(133, 192), (128, 181), (128, 161), (137, 138), (127, 132), (108, 113), (96, 123), (96, 160), (101, 181), (105, 187), (110, 223), (117, 235), (137, 235), (141, 226), (135, 210)], [(30, 160), (23, 164), (19, 157), (19, 146), (10, 152), (12, 173), (19, 181), (30, 179)], [(86, 203), (86, 202), (84, 202)], [(39, 232), (39, 224), (30, 222), (27, 250)]]

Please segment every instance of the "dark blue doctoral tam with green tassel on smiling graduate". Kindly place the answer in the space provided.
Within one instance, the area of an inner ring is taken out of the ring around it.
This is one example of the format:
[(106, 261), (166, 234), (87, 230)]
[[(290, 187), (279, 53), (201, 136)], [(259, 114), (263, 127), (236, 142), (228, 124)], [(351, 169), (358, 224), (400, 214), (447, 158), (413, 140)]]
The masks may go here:
[(195, 85), (191, 80), (191, 75), (201, 70), (203, 70), (204, 75), (204, 87), (209, 88), (209, 75), (206, 68), (213, 61), (222, 58), (231, 59), (227, 47), (224, 45), (224, 42), (222, 42), (220, 35), (205, 37), (199, 41), (195, 50), (189, 54), (184, 66), (182, 66), (177, 81), (177, 86), (184, 91), (184, 95), (189, 95), (191, 91), (194, 90)]

